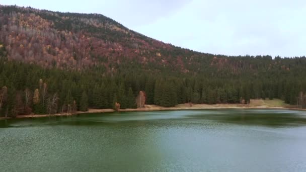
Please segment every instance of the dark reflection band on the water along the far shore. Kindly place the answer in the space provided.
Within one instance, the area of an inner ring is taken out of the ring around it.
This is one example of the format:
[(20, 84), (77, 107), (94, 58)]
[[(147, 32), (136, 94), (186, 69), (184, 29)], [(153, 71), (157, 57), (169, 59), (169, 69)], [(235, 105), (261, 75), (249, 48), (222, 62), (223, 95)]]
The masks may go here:
[(181, 110), (153, 112), (121, 112), (83, 114), (72, 117), (0, 120), (0, 127), (31, 127), (37, 125), (107, 125), (118, 122), (199, 119), (222, 123), (263, 126), (306, 125), (306, 111), (293, 110)]

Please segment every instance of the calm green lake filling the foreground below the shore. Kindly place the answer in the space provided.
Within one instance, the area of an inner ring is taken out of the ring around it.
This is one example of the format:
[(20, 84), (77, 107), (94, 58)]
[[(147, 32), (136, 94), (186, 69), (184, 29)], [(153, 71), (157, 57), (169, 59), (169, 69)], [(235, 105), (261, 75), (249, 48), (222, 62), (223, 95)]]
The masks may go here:
[(1, 120), (0, 171), (306, 171), (306, 111)]

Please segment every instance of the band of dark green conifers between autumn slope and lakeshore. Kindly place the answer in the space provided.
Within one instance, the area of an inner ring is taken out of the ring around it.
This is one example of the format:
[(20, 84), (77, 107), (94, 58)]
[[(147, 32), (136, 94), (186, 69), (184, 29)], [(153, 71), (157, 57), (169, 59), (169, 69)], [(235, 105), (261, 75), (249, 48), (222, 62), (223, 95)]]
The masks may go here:
[(121, 69), (61, 70), (36, 64), (0, 60), (0, 115), (55, 114), (88, 108), (136, 108), (144, 91), (146, 104), (173, 107), (182, 103), (245, 103), (250, 99), (282, 99), (305, 108), (306, 82), (298, 73), (208, 77), (207, 74), (139, 72)]

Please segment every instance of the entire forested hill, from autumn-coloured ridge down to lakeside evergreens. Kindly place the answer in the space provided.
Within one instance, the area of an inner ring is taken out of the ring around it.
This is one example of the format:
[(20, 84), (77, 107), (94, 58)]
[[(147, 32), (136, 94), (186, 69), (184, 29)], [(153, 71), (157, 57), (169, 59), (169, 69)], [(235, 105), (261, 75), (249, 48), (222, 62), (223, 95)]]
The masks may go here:
[(303, 107), (306, 58), (195, 52), (129, 30), (100, 14), (0, 6), (0, 115), (248, 103)]

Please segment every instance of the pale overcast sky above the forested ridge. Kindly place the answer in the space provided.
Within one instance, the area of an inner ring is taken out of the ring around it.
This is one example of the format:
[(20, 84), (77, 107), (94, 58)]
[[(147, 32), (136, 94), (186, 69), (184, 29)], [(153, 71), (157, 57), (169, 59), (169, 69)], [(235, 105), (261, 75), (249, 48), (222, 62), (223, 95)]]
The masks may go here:
[(148, 37), (205, 53), (306, 55), (304, 0), (6, 0), (0, 4), (99, 13)]

